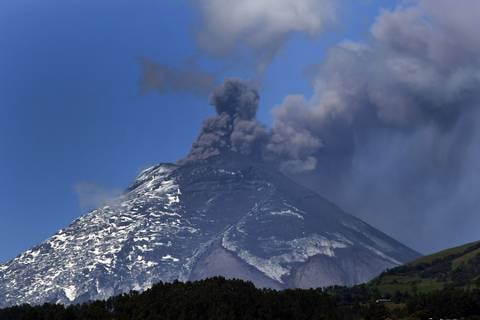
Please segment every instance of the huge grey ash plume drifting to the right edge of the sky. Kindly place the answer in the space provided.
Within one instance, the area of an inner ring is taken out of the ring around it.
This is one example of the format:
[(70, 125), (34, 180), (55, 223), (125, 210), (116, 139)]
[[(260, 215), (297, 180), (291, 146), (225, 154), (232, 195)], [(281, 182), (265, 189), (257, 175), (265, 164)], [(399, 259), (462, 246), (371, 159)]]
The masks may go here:
[(274, 110), (269, 150), (290, 171), (314, 159), (297, 178), (417, 249), (478, 238), (479, 16), (475, 0), (384, 11), (367, 43), (331, 50), (311, 98)]

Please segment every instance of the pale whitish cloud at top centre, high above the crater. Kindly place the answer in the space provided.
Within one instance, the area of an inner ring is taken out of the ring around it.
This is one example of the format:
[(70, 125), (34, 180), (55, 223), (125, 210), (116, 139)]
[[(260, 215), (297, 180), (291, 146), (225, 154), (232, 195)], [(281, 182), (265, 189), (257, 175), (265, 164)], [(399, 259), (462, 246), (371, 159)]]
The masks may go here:
[(262, 73), (292, 33), (316, 36), (335, 21), (335, 0), (192, 0), (200, 47), (214, 55), (253, 55)]

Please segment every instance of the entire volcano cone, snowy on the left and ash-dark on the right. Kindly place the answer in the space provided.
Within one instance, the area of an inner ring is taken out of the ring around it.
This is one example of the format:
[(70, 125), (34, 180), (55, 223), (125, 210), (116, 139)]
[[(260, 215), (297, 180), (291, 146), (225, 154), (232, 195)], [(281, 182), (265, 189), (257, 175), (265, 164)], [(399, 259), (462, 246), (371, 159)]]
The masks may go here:
[(418, 254), (270, 166), (225, 153), (143, 171), (0, 266), (0, 306), (102, 299), (213, 275), (260, 287), (354, 284)]

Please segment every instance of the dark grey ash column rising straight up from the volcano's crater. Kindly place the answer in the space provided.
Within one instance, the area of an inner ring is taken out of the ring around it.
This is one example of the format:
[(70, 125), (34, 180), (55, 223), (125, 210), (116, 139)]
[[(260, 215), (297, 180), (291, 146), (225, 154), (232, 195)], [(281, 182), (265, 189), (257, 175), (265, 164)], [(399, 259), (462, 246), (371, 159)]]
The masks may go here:
[(224, 150), (256, 156), (266, 130), (256, 119), (258, 91), (238, 79), (228, 79), (210, 97), (217, 116), (203, 123), (200, 135), (183, 162), (206, 159)]

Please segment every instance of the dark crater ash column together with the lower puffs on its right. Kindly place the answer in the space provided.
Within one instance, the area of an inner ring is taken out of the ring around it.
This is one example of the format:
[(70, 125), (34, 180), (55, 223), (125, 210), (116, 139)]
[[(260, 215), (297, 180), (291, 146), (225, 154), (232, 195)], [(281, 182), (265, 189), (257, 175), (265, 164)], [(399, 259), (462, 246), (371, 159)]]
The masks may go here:
[(320, 139), (278, 123), (267, 130), (256, 120), (259, 99), (258, 90), (240, 79), (227, 79), (217, 87), (210, 96), (217, 116), (203, 123), (182, 161), (206, 159), (230, 150), (273, 162), (287, 172), (314, 169), (317, 161), (312, 153), (320, 148)]

